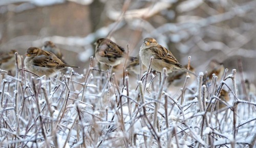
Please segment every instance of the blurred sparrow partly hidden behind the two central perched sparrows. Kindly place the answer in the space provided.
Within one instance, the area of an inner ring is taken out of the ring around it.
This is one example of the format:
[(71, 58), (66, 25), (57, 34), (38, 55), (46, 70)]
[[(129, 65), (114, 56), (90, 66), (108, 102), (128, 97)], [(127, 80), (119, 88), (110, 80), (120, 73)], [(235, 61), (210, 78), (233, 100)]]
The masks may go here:
[[(130, 57), (129, 62), (127, 63), (127, 69), (133, 71), (136, 75), (140, 74), (140, 59), (139, 55), (136, 57)], [(142, 64), (141, 72), (144, 72), (147, 70), (147, 67)]]

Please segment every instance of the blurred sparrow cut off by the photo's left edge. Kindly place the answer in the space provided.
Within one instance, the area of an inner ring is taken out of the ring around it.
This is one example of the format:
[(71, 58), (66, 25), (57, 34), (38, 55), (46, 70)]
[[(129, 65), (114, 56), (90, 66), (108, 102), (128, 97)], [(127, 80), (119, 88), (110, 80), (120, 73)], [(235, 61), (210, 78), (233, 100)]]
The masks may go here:
[[(16, 71), (16, 58), (15, 53), (16, 50), (11, 50), (8, 53), (1, 52), (0, 53), (0, 69), (9, 71), (9, 73), (15, 73)], [(20, 55), (17, 56), (18, 60), (18, 66), (20, 67), (22, 65), (22, 58)]]

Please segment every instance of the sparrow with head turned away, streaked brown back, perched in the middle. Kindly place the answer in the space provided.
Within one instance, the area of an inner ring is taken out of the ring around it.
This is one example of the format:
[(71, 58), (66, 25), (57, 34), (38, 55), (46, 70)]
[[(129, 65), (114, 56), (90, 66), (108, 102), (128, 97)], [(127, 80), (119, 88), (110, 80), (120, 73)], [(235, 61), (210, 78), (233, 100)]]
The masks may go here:
[(124, 48), (107, 38), (100, 38), (95, 43), (95, 57), (103, 64), (116, 66), (127, 56)]

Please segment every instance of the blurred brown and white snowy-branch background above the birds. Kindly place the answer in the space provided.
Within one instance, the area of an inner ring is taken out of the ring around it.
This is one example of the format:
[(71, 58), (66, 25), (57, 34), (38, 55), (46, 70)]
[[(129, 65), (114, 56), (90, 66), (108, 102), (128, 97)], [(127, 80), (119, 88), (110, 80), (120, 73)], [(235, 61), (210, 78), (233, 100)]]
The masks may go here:
[(253, 0), (1, 0), (0, 50), (24, 55), (51, 40), (82, 72), (98, 38), (111, 38), (125, 50), (129, 44), (136, 56), (143, 38), (154, 37), (181, 64), (191, 56), (197, 73), (215, 59), (229, 72), (237, 69), (239, 81), (255, 84), (255, 8)]

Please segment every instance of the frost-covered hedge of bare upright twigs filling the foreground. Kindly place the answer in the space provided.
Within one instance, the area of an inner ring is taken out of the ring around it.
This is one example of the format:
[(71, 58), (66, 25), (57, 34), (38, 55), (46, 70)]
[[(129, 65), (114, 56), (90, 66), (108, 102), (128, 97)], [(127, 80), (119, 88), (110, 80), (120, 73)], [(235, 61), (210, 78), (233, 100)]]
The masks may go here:
[[(98, 71), (100, 70), (93, 69), (91, 58), (86, 77), (72, 76), (70, 72), (64, 80), (59, 80), (59, 73), (56, 81), (53, 81), (53, 90), (48, 90), (48, 85), (45, 86), (48, 80), (44, 77), (25, 78), (26, 71), (1, 80), (0, 135), (4, 141), (8, 141), (7, 146), (254, 146), (256, 136), (250, 135), (244, 129), (248, 127), (253, 130), (256, 118), (246, 118), (247, 120), (242, 121), (241, 110), (244, 111), (242, 104), (255, 106), (256, 103), (253, 100), (239, 99), (236, 70), (227, 75), (226, 69), (221, 82), (217, 82), (217, 77), (214, 76), (209, 87), (207, 84), (202, 85), (203, 75), (199, 75), (197, 92), (190, 89), (190, 86), (183, 85), (183, 89), (187, 90), (183, 92), (182, 97), (186, 100), (183, 103), (179, 103), (179, 97), (175, 96), (174, 92), (166, 89), (165, 71), (162, 72), (162, 79), (159, 79), (161, 83), (153, 83), (151, 95), (145, 93), (143, 87), (146, 87), (150, 67), (144, 76), (145, 79), (142, 79), (145, 84), (138, 82), (138, 90), (131, 87), (134, 81), (131, 81), (127, 70), (124, 71), (123, 85), (123, 80), (118, 80), (115, 73), (112, 75), (103, 71), (104, 75), (101, 75), (102, 71)], [(232, 86), (226, 83), (227, 80), (232, 81)], [(81, 85), (82, 87), (78, 87)], [(99, 88), (103, 86), (108, 87), (108, 93), (100, 94), (103, 91)], [(229, 89), (230, 96), (234, 98), (232, 106), (221, 98), (224, 87)], [(124, 89), (126, 91), (122, 91)], [(18, 90), (17, 93), (10, 95), (14, 90)], [(187, 99), (195, 94), (198, 100)], [(106, 98), (105, 104), (100, 95)], [(68, 103), (71, 102), (69, 100), (72, 100), (71, 104)], [(217, 110), (215, 103), (225, 107)], [(18, 110), (13, 107), (14, 104), (18, 105)], [(87, 108), (87, 104), (93, 104), (95, 107)], [(253, 110), (246, 111), (250, 116), (255, 115)], [(241, 135), (248, 135), (245, 138), (250, 138), (251, 141), (238, 140)], [(49, 136), (52, 137), (51, 140)], [(63, 143), (57, 142), (59, 137)], [(0, 145), (4, 143), (1, 141)], [(51, 143), (53, 145), (50, 145)]]

